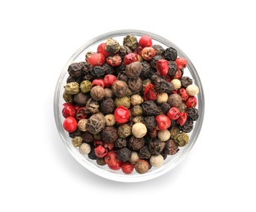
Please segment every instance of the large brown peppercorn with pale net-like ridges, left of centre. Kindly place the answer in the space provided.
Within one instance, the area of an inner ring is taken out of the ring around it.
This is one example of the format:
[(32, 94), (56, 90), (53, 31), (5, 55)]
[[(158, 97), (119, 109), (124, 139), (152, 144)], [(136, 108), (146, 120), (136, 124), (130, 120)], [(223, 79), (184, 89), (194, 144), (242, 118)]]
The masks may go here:
[(88, 119), (88, 131), (97, 134), (105, 128), (105, 117), (102, 113), (95, 113)]

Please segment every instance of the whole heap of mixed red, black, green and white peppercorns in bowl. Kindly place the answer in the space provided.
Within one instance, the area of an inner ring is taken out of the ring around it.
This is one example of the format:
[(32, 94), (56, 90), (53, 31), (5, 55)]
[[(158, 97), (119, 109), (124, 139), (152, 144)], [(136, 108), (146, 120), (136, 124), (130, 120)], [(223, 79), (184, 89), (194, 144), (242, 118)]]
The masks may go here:
[(70, 64), (63, 93), (64, 129), (99, 166), (131, 174), (160, 167), (189, 142), (199, 117), (198, 86), (187, 61), (148, 35), (107, 39)]

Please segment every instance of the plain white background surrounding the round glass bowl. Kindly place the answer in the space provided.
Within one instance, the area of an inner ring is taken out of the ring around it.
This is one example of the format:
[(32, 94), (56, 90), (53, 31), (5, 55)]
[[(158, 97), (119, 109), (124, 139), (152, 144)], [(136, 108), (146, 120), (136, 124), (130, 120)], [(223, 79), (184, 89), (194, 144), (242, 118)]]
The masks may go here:
[[(253, 2), (2, 2), (0, 211), (255, 211)], [(173, 170), (143, 183), (83, 168), (53, 117), (66, 61), (84, 42), (117, 29), (168, 38), (204, 86), (204, 125), (194, 148)]]

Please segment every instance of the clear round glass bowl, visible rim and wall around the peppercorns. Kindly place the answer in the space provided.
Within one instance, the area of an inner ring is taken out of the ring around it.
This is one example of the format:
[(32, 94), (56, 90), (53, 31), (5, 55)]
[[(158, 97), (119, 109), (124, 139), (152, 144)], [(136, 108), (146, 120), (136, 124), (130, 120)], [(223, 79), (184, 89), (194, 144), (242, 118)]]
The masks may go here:
[[(163, 166), (159, 168), (152, 167), (146, 174), (138, 174), (135, 170), (133, 170), (132, 174), (124, 174), (122, 170), (110, 170), (108, 166), (99, 166), (97, 165), (96, 160), (91, 160), (88, 158), (88, 155), (82, 155), (79, 152), (79, 148), (75, 148), (71, 142), (71, 138), (69, 134), (64, 130), (62, 123), (64, 121), (64, 117), (62, 116), (62, 104), (65, 103), (62, 94), (64, 91), (64, 86), (66, 83), (67, 77), (69, 77), (69, 73), (67, 72), (67, 68), (70, 64), (74, 62), (81, 62), (85, 60), (85, 55), (88, 51), (97, 51), (97, 46), (101, 42), (106, 42), (108, 38), (113, 38), (117, 40), (120, 45), (123, 44), (124, 37), (127, 35), (134, 35), (137, 38), (140, 38), (142, 35), (147, 34), (152, 38), (153, 44), (159, 44), (165, 48), (172, 46), (177, 50), (177, 55), (186, 58), (187, 67), (184, 69), (183, 76), (191, 77), (193, 79), (193, 84), (199, 87), (200, 92), (197, 95), (197, 106), (199, 111), (199, 118), (194, 122), (193, 130), (188, 134), (190, 136), (190, 140), (185, 147), (180, 148), (180, 150), (175, 155), (168, 155), (168, 157), (164, 160)], [(86, 42), (81, 46), (78, 51), (74, 53), (70, 57), (70, 60), (67, 61), (64, 68), (61, 71), (60, 77), (56, 82), (56, 91), (54, 95), (54, 116), (56, 120), (56, 127), (61, 135), (61, 139), (63, 140), (65, 146), (68, 148), (72, 156), (79, 161), (81, 165), (83, 165), (86, 169), (90, 170), (92, 173), (97, 174), (103, 178), (119, 181), (119, 182), (141, 182), (149, 179), (155, 179), (160, 175), (172, 170), (174, 166), (182, 161), (184, 157), (191, 151), (191, 148), (194, 146), (196, 139), (200, 135), (201, 126), (203, 124), (204, 119), (204, 91), (203, 86), (200, 82), (200, 77), (195, 70), (194, 65), (191, 63), (191, 60), (185, 55), (185, 53), (177, 47), (173, 42), (168, 41), (168, 39), (163, 38), (155, 33), (150, 33), (141, 30), (135, 29), (126, 29), (126, 30), (118, 30), (110, 33), (104, 33), (98, 36), (97, 38), (93, 38), (91, 41)]]

